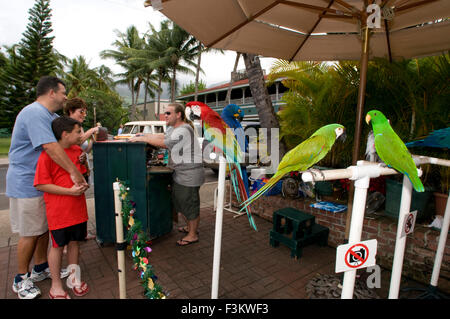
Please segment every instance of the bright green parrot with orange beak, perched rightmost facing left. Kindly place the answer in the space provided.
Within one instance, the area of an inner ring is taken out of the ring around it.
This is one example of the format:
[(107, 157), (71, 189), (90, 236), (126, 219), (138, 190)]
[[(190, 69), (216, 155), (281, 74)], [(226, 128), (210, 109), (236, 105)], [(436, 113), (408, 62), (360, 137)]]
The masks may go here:
[(378, 156), (388, 167), (408, 176), (416, 192), (423, 192), (425, 189), (417, 175), (416, 164), (411, 153), (394, 132), (386, 116), (378, 110), (369, 111), (366, 115), (366, 123), (369, 124), (369, 122), (372, 123)]

